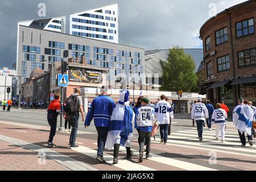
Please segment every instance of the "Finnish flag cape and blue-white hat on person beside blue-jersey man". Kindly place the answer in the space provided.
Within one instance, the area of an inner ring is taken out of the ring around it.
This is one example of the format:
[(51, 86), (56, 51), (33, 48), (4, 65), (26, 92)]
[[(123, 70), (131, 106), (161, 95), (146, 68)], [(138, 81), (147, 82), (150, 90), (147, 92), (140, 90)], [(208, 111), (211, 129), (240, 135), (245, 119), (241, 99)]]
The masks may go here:
[(130, 147), (133, 138), (135, 114), (129, 106), (129, 90), (121, 90), (117, 106), (114, 108), (106, 139), (106, 149), (111, 150), (115, 143)]

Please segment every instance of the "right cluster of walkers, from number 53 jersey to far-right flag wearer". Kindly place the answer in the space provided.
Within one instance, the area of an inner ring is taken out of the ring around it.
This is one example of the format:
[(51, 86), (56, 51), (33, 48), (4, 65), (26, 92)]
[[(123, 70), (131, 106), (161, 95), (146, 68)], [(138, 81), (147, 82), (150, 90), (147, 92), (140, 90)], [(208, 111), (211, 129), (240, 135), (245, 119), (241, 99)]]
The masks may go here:
[[(224, 101), (217, 103), (214, 109), (214, 106), (210, 104), (208, 100), (205, 105), (201, 102), (201, 98), (198, 98), (197, 101), (192, 105), (191, 110), (191, 119), (193, 126), (195, 122), (197, 124), (197, 133), (199, 140), (203, 141), (203, 130), (205, 121), (207, 122), (208, 129), (212, 131), (212, 125), (216, 126), (216, 138), (221, 142), (225, 142), (225, 130), (226, 122), (228, 119), (229, 108), (224, 104)], [(253, 146), (253, 137), (256, 138), (255, 129), (253, 122), (255, 122), (256, 109), (252, 106), (251, 101), (246, 101), (243, 99), (239, 100), (239, 105), (236, 106), (233, 110), (233, 124), (238, 129), (238, 134), (241, 140), (241, 146), (246, 146), (245, 133), (247, 133), (247, 138), (250, 146)], [(219, 133), (221, 137), (219, 138)]]

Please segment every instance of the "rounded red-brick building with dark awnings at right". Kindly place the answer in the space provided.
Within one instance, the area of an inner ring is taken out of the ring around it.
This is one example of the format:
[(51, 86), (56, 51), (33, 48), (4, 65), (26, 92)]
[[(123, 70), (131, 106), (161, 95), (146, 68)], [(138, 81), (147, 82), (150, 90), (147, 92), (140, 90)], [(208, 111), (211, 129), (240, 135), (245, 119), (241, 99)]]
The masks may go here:
[(200, 29), (205, 84), (214, 103), (233, 107), (243, 97), (256, 104), (256, 1), (246, 1), (210, 18)]

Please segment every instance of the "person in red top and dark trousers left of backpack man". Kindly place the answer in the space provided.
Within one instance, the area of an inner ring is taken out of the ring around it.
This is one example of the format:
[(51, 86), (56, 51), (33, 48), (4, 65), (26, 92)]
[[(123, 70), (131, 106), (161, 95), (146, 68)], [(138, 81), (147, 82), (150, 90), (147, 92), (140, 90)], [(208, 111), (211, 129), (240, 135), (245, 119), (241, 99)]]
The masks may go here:
[(47, 141), (48, 147), (56, 147), (56, 144), (53, 144), (52, 140), (56, 134), (56, 127), (57, 127), (57, 117), (60, 114), (60, 94), (54, 94), (55, 100), (51, 102), (47, 109), (47, 121), (49, 126), (51, 126), (49, 139)]

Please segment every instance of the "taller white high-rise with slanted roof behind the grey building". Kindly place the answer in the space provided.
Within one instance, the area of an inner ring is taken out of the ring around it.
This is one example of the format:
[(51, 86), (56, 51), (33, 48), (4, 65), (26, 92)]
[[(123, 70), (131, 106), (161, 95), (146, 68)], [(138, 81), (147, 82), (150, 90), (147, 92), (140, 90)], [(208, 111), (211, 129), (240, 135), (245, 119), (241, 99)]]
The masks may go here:
[(118, 4), (71, 14), (69, 25), (71, 35), (118, 44)]

